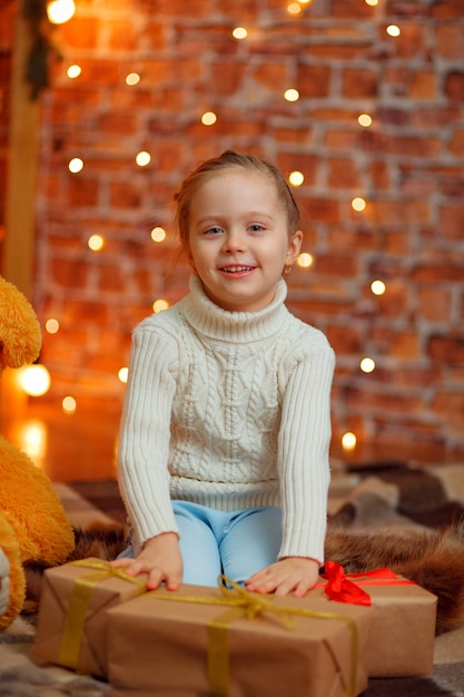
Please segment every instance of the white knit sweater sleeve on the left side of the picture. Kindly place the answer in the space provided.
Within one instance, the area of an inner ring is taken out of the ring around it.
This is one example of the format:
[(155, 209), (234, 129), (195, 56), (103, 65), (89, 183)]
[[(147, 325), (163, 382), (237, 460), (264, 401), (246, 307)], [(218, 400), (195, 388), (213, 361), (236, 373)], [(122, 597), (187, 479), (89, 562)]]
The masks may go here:
[(146, 540), (177, 532), (169, 497), (169, 439), (177, 351), (168, 336), (138, 327), (118, 445), (118, 478), (136, 556)]

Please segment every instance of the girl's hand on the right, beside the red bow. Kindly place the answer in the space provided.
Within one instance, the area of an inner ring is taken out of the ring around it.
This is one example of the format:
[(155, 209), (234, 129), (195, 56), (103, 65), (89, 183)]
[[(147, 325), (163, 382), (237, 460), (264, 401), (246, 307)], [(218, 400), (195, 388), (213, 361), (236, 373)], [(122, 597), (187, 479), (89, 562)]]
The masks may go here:
[(254, 573), (245, 587), (257, 593), (302, 598), (319, 578), (319, 563), (306, 557), (286, 557)]

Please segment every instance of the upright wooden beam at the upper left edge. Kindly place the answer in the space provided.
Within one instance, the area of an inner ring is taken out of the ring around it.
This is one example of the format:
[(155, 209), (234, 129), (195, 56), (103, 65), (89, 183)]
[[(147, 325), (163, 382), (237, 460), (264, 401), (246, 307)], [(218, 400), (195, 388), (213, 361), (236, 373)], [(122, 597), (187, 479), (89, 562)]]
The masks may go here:
[(30, 24), (18, 2), (11, 76), (6, 236), (2, 275), (31, 300), (36, 238), (39, 100), (32, 100), (26, 70), (31, 49)]

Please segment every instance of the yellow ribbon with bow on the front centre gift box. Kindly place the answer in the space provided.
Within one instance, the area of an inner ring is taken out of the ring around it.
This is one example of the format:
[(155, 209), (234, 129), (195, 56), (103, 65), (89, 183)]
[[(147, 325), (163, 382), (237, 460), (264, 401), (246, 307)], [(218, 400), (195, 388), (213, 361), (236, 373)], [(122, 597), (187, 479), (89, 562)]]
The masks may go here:
[[(200, 605), (226, 605), (231, 606), (227, 610), (213, 619), (208, 625), (208, 679), (211, 697), (227, 697), (229, 695), (229, 650), (228, 636), (230, 625), (246, 617), (255, 619), (264, 612), (276, 616), (282, 624), (292, 629), (294, 617), (309, 617), (313, 619), (332, 619), (344, 622), (351, 636), (351, 675), (347, 697), (356, 694), (356, 667), (358, 658), (358, 632), (357, 625), (353, 617), (339, 615), (338, 612), (326, 612), (324, 610), (309, 610), (307, 608), (294, 608), (288, 606), (277, 606), (272, 596), (253, 593), (225, 576), (219, 577), (219, 583), (227, 582), (231, 588), (220, 585), (221, 598), (208, 596), (185, 596), (178, 592), (150, 592), (154, 599), (174, 600), (179, 602), (197, 602)], [(294, 616), (294, 617), (293, 617)]]

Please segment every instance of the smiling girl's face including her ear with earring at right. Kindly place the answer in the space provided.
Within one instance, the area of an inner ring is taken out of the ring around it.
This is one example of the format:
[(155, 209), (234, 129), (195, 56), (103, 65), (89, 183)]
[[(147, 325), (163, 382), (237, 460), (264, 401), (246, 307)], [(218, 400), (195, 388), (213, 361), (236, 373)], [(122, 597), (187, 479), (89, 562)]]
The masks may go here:
[(189, 257), (207, 296), (223, 310), (269, 305), (302, 239), (300, 230), (289, 236), (277, 188), (258, 171), (230, 168), (211, 176), (191, 200)]

